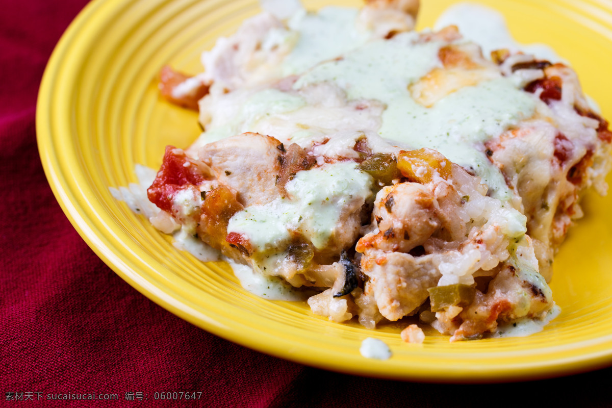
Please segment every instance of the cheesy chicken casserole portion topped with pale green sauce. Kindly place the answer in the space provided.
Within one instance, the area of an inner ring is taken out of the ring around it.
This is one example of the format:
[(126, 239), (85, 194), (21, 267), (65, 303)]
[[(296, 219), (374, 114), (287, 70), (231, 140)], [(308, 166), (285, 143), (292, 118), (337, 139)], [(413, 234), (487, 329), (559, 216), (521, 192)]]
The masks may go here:
[(415, 316), (457, 340), (549, 319), (554, 254), (610, 169), (575, 72), (483, 56), (455, 26), (416, 32), (418, 1), (270, 7), (203, 73), (162, 70), (204, 132), (166, 147), (152, 223), (315, 291), (335, 322)]

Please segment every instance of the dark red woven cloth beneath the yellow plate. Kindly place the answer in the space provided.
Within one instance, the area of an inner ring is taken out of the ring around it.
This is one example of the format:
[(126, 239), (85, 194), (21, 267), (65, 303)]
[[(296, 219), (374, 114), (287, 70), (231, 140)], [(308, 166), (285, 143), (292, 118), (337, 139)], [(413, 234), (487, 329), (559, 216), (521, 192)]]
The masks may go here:
[[(606, 379), (612, 369), (484, 386), (331, 373), (237, 346), (135, 291), (65, 218), (36, 146), (43, 69), (85, 4), (0, 0), (1, 407), (438, 407), (500, 402), (518, 391), (534, 403), (610, 405)], [(167, 391), (196, 393), (196, 400), (154, 399), (155, 392)], [(50, 401), (58, 394), (94, 393), (118, 399)]]

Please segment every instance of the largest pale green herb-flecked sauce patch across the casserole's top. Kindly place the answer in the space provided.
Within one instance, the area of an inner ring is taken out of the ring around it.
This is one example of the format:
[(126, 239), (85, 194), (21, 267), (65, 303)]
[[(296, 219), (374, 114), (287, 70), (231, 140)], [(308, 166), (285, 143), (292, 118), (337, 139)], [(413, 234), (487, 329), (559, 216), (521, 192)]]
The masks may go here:
[(534, 98), (500, 77), (464, 87), (431, 108), (422, 106), (408, 87), (439, 64), (442, 43), (416, 43), (416, 39), (417, 34), (410, 32), (367, 43), (340, 61), (317, 65), (300, 77), (294, 89), (329, 81), (345, 89), (349, 99), (385, 103), (379, 135), (414, 149), (436, 149), (482, 177), (491, 195), (509, 199), (506, 182), (487, 160), (482, 143), (531, 117)]

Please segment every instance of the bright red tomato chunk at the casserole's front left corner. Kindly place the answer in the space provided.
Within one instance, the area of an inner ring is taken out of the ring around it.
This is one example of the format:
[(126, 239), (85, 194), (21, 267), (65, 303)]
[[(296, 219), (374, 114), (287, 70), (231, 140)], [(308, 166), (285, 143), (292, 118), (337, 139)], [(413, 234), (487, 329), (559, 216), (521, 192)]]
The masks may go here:
[(147, 189), (147, 196), (157, 207), (172, 213), (172, 203), (177, 191), (190, 185), (197, 186), (204, 180), (206, 179), (203, 174), (189, 161), (183, 150), (166, 146), (162, 167), (151, 187)]

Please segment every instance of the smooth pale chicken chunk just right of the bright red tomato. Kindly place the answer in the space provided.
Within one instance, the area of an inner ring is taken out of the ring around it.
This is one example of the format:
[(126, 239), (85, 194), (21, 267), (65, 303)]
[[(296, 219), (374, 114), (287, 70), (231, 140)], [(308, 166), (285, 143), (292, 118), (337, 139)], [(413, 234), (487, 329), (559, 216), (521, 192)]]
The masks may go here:
[(243, 133), (207, 144), (198, 152), (217, 180), (236, 191), (242, 206), (263, 205), (280, 196), (276, 183), (285, 148), (271, 136)]

